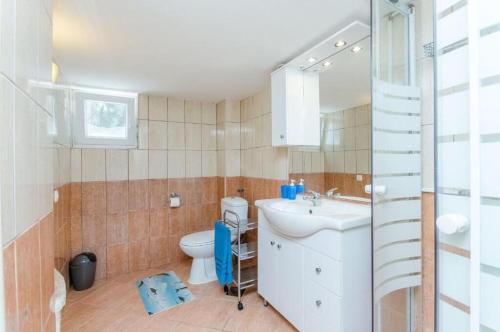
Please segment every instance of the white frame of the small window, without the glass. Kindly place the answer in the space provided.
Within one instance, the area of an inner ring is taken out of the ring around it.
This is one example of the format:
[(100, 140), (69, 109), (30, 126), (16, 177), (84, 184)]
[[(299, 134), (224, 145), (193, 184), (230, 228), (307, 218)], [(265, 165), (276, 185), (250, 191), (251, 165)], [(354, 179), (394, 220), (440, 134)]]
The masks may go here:
[[(127, 138), (88, 137), (85, 135), (85, 100), (120, 103), (127, 105)], [(72, 88), (72, 136), (75, 148), (137, 148), (138, 96), (120, 91)]]

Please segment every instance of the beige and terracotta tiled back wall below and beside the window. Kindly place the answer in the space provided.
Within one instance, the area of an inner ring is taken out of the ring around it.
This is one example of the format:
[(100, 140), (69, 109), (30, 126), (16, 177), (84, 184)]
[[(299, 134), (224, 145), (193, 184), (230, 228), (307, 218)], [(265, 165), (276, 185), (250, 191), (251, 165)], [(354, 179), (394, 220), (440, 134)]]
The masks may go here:
[(218, 215), (215, 104), (141, 95), (139, 119), (138, 149), (71, 150), (71, 251), (97, 254), (97, 278), (182, 259)]

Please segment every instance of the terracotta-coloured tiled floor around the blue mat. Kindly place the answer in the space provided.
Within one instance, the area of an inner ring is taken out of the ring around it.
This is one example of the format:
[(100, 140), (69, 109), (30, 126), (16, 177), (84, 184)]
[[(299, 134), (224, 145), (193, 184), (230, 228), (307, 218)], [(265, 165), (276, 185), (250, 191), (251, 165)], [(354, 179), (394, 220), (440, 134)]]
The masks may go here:
[[(89, 290), (68, 294), (63, 310), (62, 331), (295, 331), (271, 306), (264, 307), (256, 291), (237, 299), (224, 294), (217, 282), (187, 283), (190, 261), (131, 273), (111, 281), (99, 281)], [(158, 272), (175, 271), (196, 299), (148, 316), (135, 281)]]

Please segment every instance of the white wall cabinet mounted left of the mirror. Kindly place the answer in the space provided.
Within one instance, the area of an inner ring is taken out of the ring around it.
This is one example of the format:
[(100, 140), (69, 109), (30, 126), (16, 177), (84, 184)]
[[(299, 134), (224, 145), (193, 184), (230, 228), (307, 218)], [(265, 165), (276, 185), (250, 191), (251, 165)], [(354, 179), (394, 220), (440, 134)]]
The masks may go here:
[(291, 67), (271, 74), (273, 146), (320, 145), (319, 76)]

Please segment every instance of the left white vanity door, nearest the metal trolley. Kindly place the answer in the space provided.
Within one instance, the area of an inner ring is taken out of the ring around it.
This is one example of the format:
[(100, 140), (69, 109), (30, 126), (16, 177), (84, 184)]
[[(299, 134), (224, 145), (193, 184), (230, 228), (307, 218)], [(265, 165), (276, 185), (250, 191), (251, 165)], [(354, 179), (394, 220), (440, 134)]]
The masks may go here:
[(259, 294), (275, 306), (278, 287), (276, 283), (276, 239), (262, 227), (259, 227), (258, 260)]

